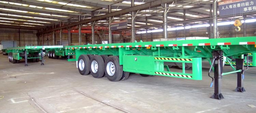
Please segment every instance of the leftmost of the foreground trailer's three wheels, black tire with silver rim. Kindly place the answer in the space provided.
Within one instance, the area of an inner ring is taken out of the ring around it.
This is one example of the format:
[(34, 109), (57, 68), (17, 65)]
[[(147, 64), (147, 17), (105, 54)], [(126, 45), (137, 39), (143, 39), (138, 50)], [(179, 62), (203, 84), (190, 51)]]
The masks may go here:
[[(84, 68), (82, 68), (82, 63), (84, 62)], [(85, 54), (79, 56), (77, 61), (77, 67), (81, 75), (88, 75), (90, 72), (90, 60), (89, 57)]]

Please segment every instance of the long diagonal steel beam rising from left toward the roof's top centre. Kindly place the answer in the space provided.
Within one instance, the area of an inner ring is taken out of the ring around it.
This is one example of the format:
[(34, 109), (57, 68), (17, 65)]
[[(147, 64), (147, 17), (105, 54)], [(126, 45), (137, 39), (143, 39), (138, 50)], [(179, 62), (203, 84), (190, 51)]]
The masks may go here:
[[(117, 15), (120, 15), (120, 14), (127, 14), (127, 13), (132, 12), (132, 11), (144, 10), (144, 9), (147, 9), (148, 7), (160, 6), (162, 3), (171, 3), (173, 1), (175, 1), (175, 0), (155, 0), (155, 1), (147, 2), (147, 3), (141, 4), (141, 5), (136, 5), (134, 7), (126, 8), (126, 9), (123, 9), (123, 10), (120, 10), (120, 11), (115, 11), (115, 12), (112, 12), (112, 13), (109, 13), (109, 14), (97, 16), (97, 17), (94, 17), (94, 18), (91, 18), (91, 19), (86, 19), (86, 20), (83, 20), (83, 21), (80, 21), (80, 22), (71, 23), (71, 24), (66, 25), (66, 26), (58, 27), (58, 28), (51, 29), (51, 30), (46, 30), (43, 33), (52, 32), (52, 31), (56, 31), (56, 30), (59, 30), (59, 29), (67, 28), (67, 27), (73, 27), (73, 26), (76, 26), (76, 25), (79, 25), (79, 24), (88, 23), (88, 22), (91, 22), (91, 21), (96, 21), (96, 20), (107, 18), (107, 17), (117, 16)], [(180, 1), (180, 0), (178, 0), (178, 1)]]

